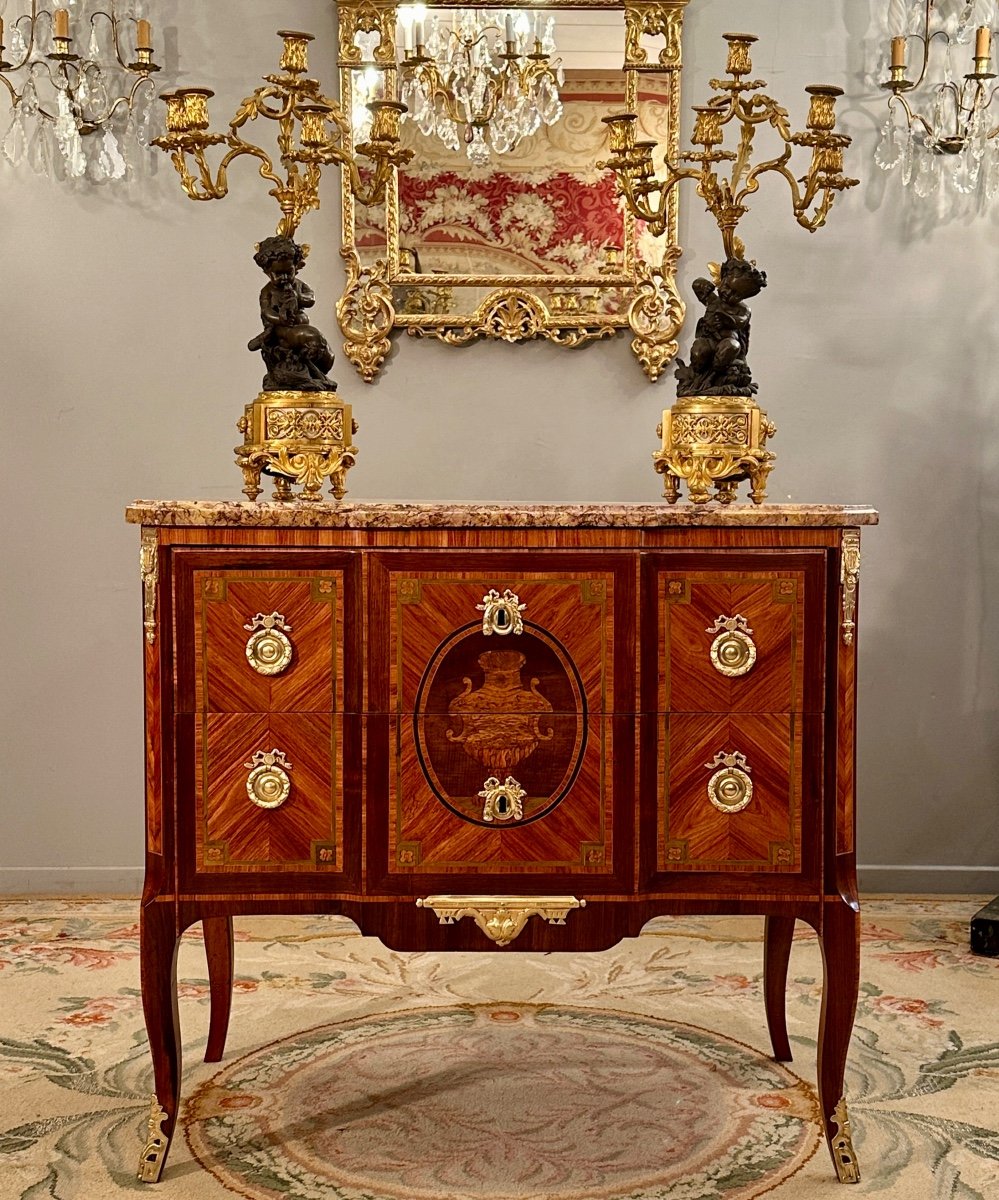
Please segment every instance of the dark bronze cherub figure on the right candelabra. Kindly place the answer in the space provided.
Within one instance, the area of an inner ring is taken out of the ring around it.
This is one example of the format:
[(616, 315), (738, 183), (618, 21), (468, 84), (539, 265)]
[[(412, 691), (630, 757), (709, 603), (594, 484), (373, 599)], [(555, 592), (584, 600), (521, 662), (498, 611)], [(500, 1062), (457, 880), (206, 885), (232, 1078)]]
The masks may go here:
[(752, 313), (743, 304), (766, 287), (766, 272), (744, 258), (726, 258), (711, 280), (694, 280), (694, 294), (705, 306), (694, 330), (690, 362), (680, 360), (677, 396), (753, 396), (746, 355), (749, 350)]

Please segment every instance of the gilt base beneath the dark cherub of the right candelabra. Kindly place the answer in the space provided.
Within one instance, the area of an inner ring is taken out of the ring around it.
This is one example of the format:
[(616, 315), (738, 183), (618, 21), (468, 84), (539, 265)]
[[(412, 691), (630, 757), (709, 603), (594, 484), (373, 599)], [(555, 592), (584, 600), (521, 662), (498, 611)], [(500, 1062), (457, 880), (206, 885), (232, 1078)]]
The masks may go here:
[(752, 398), (742, 396), (684, 396), (663, 410), (657, 433), (663, 449), (652, 456), (663, 476), (663, 496), (680, 499), (680, 484), (694, 504), (714, 499), (731, 504), (736, 488), (749, 480), (754, 504), (766, 499), (766, 480), (776, 455), (766, 449), (777, 426)]

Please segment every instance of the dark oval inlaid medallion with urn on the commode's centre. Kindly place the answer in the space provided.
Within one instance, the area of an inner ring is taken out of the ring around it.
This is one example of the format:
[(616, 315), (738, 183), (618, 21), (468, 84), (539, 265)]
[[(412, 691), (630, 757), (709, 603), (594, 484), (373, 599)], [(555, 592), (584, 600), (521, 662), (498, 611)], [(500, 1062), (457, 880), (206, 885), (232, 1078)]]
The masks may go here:
[[(564, 799), (586, 749), (586, 716), (579, 670), (548, 630), (525, 622), (522, 634), (501, 641), (474, 623), (427, 664), (413, 736), (437, 799), (498, 829), (538, 821)], [(522, 791), (522, 815), (497, 821), (490, 797), (507, 785), (510, 796)]]

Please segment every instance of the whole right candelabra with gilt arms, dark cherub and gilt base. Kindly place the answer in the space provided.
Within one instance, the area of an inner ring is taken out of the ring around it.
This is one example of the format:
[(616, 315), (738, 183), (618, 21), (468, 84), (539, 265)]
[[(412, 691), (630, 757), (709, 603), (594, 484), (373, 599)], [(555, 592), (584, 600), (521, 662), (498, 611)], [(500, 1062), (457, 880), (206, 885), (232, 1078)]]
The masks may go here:
[[(656, 143), (635, 139), (638, 116), (622, 113), (604, 118), (611, 155), (599, 166), (614, 170), (618, 193), (653, 234), (666, 232), (670, 196), (684, 179), (695, 181), (698, 194), (722, 233), (724, 262), (711, 264), (712, 278), (694, 282), (705, 312), (698, 322), (690, 361), (677, 368), (678, 400), (663, 413), (663, 444), (653, 455), (671, 504), (680, 497), (681, 480), (687, 481), (695, 504), (711, 499), (712, 486), (717, 499), (729, 504), (738, 484), (747, 479), (753, 503), (766, 499), (766, 480), (774, 461), (766, 442), (776, 426), (753, 400), (758, 389), (746, 361), (750, 312), (743, 301), (766, 287), (766, 275), (746, 260), (737, 236), (738, 223), (748, 212), (748, 197), (759, 188), (764, 175), (780, 175), (791, 192), (795, 220), (814, 233), (825, 224), (837, 192), (857, 184), (843, 174), (843, 151), (851, 139), (836, 132), (836, 97), (842, 89), (807, 88), (812, 97), (807, 127), (794, 133), (786, 109), (761, 91), (766, 82), (749, 78), (749, 48), (755, 36), (723, 36), (729, 44), (730, 78), (711, 80), (718, 95), (694, 107), (690, 140), (699, 149), (680, 155), (681, 162), (695, 166), (666, 161), (665, 178), (660, 179), (653, 166)], [(725, 150), (725, 127), (732, 122), (740, 130), (738, 148)], [(754, 164), (753, 143), (761, 125), (773, 130), (782, 146), (774, 157)], [(812, 162), (800, 179), (789, 167), (795, 146), (812, 149)]]

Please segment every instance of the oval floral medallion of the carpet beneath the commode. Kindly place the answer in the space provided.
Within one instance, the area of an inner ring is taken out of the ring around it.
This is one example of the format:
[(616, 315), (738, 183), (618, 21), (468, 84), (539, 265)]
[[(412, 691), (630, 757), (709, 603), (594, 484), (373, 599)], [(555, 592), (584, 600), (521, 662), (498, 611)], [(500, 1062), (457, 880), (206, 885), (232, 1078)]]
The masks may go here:
[(554, 1004), (309, 1030), (203, 1084), (185, 1129), (252, 1200), (750, 1200), (819, 1145), (810, 1088), (755, 1050)]

